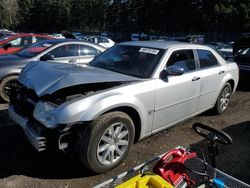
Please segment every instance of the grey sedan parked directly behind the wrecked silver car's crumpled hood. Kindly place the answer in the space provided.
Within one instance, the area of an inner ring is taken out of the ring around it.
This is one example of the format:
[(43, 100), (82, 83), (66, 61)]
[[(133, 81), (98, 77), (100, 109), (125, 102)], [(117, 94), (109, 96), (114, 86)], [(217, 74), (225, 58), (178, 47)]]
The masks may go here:
[(0, 96), (9, 101), (9, 86), (15, 83), (21, 69), (30, 61), (85, 64), (104, 50), (90, 42), (54, 39), (33, 44), (16, 54), (0, 56)]

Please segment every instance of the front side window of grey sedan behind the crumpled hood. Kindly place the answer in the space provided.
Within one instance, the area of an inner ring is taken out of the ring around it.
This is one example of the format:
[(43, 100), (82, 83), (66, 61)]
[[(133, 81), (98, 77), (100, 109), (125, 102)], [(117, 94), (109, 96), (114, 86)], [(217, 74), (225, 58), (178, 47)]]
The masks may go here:
[(55, 58), (78, 56), (78, 44), (66, 44), (50, 51)]

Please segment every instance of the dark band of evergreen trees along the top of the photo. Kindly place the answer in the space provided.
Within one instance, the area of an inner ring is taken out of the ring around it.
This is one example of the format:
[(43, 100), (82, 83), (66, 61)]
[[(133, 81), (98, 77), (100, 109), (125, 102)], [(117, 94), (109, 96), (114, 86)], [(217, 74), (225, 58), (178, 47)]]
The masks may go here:
[(0, 0), (0, 27), (23, 32), (247, 32), (249, 0)]

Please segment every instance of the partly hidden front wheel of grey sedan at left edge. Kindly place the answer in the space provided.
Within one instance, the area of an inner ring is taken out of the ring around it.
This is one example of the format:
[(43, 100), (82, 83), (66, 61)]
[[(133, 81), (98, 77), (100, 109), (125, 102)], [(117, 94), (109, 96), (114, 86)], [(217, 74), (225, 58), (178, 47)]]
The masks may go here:
[(1, 81), (0, 96), (4, 101), (6, 102), (10, 101), (8, 92), (10, 91), (10, 86), (16, 82), (17, 78), (18, 78), (17, 75), (8, 76)]

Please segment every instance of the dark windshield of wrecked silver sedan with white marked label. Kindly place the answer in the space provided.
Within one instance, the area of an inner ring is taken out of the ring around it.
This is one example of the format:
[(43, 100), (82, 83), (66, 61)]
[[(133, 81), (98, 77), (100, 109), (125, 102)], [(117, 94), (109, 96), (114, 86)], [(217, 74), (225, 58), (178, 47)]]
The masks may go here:
[(89, 64), (138, 78), (149, 78), (163, 53), (163, 49), (116, 45)]

